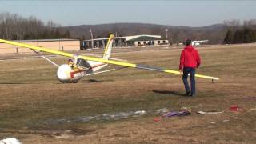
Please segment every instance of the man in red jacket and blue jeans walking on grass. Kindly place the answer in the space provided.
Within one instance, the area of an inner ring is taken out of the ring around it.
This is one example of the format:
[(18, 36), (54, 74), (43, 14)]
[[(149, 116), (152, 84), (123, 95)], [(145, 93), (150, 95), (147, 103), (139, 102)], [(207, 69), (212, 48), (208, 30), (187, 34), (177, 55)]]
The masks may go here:
[[(198, 54), (198, 50), (195, 50), (193, 46), (191, 46), (191, 40), (187, 39), (186, 47), (182, 50), (180, 64), (179, 64), (179, 71), (182, 75), (182, 80), (186, 89), (186, 96), (194, 96), (195, 94), (195, 69), (200, 66), (201, 58)], [(190, 86), (187, 82), (188, 74), (190, 74)]]

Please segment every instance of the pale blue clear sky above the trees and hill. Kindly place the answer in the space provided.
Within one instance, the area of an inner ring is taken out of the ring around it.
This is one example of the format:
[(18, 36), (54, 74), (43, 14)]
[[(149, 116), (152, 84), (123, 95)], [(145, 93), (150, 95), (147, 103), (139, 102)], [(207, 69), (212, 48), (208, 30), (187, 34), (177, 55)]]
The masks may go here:
[(34, 16), (61, 26), (116, 22), (154, 23), (169, 26), (209, 26), (224, 20), (256, 19), (256, 1), (0, 1), (0, 13)]

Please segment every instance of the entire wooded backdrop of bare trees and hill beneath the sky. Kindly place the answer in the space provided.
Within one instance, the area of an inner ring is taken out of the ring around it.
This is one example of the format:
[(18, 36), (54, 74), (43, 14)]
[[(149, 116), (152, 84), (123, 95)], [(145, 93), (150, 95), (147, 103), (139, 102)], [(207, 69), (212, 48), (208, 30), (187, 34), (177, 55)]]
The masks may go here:
[[(170, 35), (174, 42), (181, 42), (182, 39), (190, 36), (193, 39), (210, 39), (212, 43), (248, 43), (256, 42), (256, 20), (244, 21), (239, 20), (225, 21), (226, 26), (206, 26), (202, 28), (175, 27), (169, 26)], [(8, 12), (0, 13), (0, 38), (10, 40), (26, 39), (51, 39), (51, 38), (90, 38), (90, 29), (94, 30), (96, 37), (102, 38), (109, 32), (116, 32), (118, 36), (133, 34), (158, 34), (166, 26), (152, 24), (109, 24), (100, 26), (67, 26), (62, 27), (53, 21), (42, 22), (38, 18), (30, 16), (24, 18), (18, 14)], [(209, 34), (210, 33), (210, 34)], [(165, 34), (162, 35), (165, 38)]]

